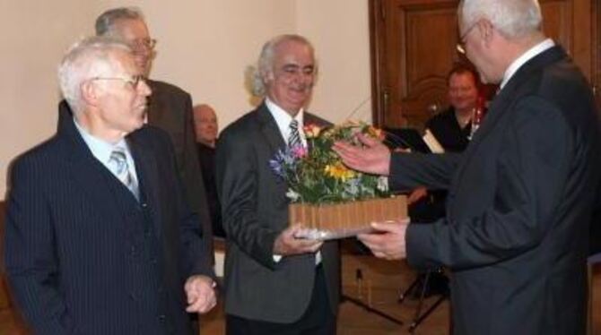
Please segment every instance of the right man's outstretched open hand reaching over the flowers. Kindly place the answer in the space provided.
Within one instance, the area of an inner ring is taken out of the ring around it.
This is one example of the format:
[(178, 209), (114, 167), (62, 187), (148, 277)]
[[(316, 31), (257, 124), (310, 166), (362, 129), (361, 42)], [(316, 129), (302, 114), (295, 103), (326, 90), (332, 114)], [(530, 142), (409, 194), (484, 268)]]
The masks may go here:
[(373, 175), (388, 176), (390, 172), (390, 150), (370, 136), (362, 133), (357, 138), (364, 147), (356, 146), (348, 142), (335, 142), (333, 149), (343, 159), (344, 164), (355, 170)]

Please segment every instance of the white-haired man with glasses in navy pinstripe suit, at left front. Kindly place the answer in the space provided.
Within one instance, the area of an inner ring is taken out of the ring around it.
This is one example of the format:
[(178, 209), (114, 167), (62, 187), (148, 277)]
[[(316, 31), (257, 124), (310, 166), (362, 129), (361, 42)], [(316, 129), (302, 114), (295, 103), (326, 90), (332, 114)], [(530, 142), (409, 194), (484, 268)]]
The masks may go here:
[(70, 108), (13, 166), (16, 305), (36, 334), (191, 334), (186, 312), (215, 305), (213, 271), (169, 138), (142, 128), (151, 90), (131, 49), (85, 39), (58, 73)]

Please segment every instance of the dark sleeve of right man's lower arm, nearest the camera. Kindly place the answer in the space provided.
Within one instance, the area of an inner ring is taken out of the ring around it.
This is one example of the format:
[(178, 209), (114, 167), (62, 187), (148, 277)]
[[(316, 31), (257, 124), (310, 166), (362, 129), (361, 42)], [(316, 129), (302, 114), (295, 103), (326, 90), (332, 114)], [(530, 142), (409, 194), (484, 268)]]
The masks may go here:
[(498, 158), (494, 201), (462, 222), (410, 225), (408, 262), (469, 269), (510, 259), (538, 245), (556, 218), (575, 150), (561, 110), (529, 97), (512, 112)]

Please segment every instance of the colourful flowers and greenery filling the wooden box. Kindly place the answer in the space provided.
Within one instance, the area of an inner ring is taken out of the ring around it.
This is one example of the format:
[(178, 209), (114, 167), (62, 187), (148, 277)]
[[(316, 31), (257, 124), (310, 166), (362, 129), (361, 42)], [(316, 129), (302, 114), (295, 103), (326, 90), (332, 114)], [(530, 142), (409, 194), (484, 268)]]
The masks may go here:
[(277, 176), (288, 184), (292, 202), (342, 203), (388, 196), (386, 177), (346, 168), (332, 145), (336, 141), (359, 144), (357, 133), (382, 139), (381, 130), (363, 123), (346, 123), (328, 128), (306, 125), (304, 133), (311, 150), (302, 145), (280, 150), (269, 161)]

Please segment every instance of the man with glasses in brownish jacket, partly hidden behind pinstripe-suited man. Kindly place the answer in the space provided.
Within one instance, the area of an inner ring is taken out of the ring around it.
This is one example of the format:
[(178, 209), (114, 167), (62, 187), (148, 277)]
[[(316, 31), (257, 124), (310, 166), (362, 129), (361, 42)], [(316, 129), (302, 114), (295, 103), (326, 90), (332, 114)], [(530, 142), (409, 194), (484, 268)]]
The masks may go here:
[[(142, 12), (133, 7), (109, 9), (96, 19), (95, 29), (98, 36), (123, 39), (134, 50), (136, 64), (145, 76), (149, 75), (156, 40), (151, 39)], [(192, 99), (186, 91), (170, 83), (152, 80), (147, 83), (152, 90), (148, 99), (148, 124), (170, 135), (188, 206), (198, 213), (203, 228), (204, 261), (213, 263), (213, 229), (196, 153)]]

